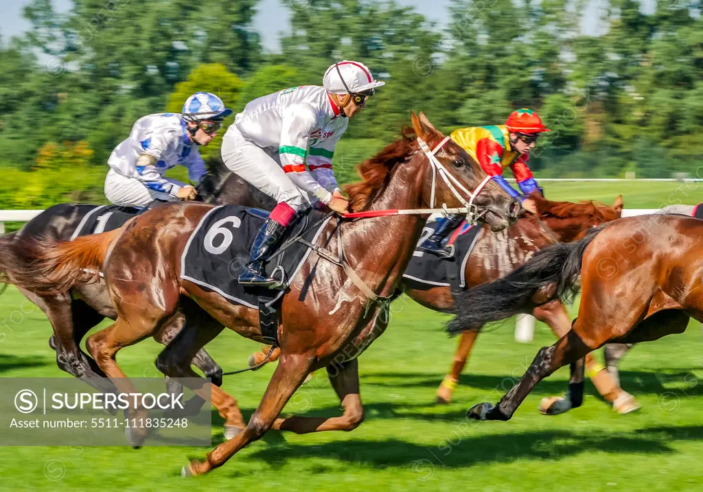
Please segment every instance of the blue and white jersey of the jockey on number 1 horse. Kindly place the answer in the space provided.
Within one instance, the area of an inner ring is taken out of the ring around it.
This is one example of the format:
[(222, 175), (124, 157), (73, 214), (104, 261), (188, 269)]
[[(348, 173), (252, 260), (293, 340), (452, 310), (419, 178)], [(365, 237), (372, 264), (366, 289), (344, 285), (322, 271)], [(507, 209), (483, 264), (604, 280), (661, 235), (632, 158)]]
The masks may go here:
[[(154, 157), (153, 166), (137, 166), (142, 154)], [(181, 164), (188, 168), (188, 178), (199, 183), (205, 176), (205, 162), (200, 157), (198, 144), (191, 140), (186, 122), (181, 115), (166, 112), (148, 115), (137, 120), (129, 138), (112, 150), (108, 159), (115, 172), (142, 181), (151, 190), (176, 196), (180, 186), (164, 179), (164, 173)]]

